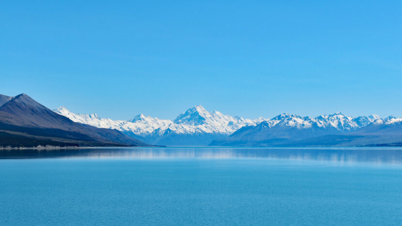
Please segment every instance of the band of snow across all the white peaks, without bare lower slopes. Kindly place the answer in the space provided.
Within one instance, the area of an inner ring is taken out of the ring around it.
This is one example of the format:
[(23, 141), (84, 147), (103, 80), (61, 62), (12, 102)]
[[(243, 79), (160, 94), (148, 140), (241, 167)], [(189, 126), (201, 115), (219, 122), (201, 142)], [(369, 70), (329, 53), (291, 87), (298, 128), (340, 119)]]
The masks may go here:
[[(139, 114), (130, 121), (111, 120), (99, 118), (96, 114), (76, 114), (70, 112), (65, 106), (54, 110), (72, 121), (89, 124), (99, 128), (116, 129), (122, 132), (133, 133), (138, 136), (164, 136), (167, 134), (220, 134), (231, 135), (243, 126), (263, 127), (294, 127), (306, 128), (329, 128), (339, 131), (353, 131), (365, 127), (371, 123), (390, 124), (402, 122), (402, 118), (388, 117), (381, 119), (378, 115), (351, 117), (337, 112), (331, 115), (320, 115), (315, 118), (301, 117), (289, 113), (280, 114), (272, 119), (243, 119), (224, 115), (219, 111), (208, 112), (201, 105), (189, 108), (177, 116), (174, 121), (162, 120)], [(263, 123), (262, 123), (263, 122)]]

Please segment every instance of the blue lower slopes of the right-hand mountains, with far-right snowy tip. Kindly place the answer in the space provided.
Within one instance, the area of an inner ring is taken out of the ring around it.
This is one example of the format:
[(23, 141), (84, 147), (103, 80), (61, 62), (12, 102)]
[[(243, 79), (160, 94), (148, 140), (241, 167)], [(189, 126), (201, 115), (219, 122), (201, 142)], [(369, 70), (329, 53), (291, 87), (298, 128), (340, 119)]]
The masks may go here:
[(231, 136), (214, 140), (211, 146), (258, 147), (355, 147), (402, 146), (402, 122), (394, 117), (374, 122), (356, 130), (337, 130), (312, 124), (308, 127), (270, 126), (262, 122), (239, 129)]

